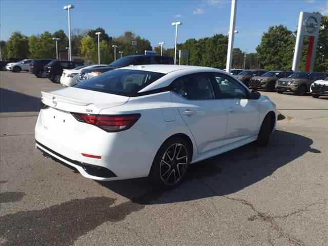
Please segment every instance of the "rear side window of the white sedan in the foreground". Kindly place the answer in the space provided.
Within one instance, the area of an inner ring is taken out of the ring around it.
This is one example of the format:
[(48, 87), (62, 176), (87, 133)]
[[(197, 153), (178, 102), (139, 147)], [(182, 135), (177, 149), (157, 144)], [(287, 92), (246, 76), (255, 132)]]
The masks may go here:
[(177, 78), (173, 81), (171, 90), (190, 100), (215, 98), (211, 80), (205, 73), (195, 73)]

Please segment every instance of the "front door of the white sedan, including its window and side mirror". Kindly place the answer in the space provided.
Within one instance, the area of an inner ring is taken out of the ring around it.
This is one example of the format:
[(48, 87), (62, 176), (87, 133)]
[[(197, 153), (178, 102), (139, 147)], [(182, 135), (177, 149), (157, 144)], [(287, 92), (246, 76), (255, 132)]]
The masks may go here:
[(233, 77), (221, 73), (214, 73), (213, 76), (228, 115), (223, 145), (255, 136), (259, 121), (258, 100), (249, 99), (248, 90)]

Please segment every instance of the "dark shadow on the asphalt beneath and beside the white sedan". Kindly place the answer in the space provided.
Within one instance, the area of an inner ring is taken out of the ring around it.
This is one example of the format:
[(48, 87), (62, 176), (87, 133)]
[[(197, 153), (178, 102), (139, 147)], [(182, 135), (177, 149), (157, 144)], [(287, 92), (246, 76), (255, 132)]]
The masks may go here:
[(312, 149), (313, 140), (295, 133), (275, 131), (266, 148), (253, 143), (190, 165), (185, 181), (162, 191), (146, 178), (98, 182), (138, 204), (161, 204), (224, 196), (269, 177), (277, 169)]

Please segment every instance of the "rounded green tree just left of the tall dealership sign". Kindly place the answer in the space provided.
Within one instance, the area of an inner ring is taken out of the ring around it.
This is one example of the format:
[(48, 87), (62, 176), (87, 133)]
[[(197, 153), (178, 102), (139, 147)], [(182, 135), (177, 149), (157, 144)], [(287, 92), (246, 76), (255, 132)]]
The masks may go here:
[(291, 69), (295, 35), (283, 25), (271, 26), (264, 32), (256, 47), (258, 58), (265, 69)]

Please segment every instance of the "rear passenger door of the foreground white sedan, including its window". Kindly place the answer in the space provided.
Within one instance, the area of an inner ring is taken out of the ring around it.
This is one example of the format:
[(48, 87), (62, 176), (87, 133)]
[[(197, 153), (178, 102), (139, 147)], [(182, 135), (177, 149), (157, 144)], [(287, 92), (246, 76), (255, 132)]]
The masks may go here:
[(190, 129), (198, 153), (223, 145), (227, 128), (227, 111), (213, 90), (208, 73), (194, 73), (175, 79), (171, 98), (181, 118)]

